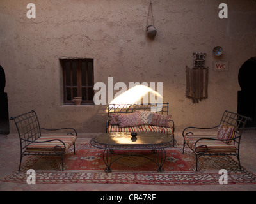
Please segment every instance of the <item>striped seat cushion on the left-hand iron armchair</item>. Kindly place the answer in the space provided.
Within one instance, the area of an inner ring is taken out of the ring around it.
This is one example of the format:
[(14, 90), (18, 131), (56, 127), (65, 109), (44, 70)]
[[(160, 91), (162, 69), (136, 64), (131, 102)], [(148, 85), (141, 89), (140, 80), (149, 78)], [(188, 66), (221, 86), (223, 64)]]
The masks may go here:
[[(36, 142), (29, 144), (26, 147), (26, 152), (41, 152), (41, 153), (55, 153), (54, 152), (54, 147), (55, 146), (60, 146), (60, 147), (56, 147), (56, 152), (62, 152), (64, 149), (64, 145), (63, 143), (61, 143), (58, 140), (61, 140), (62, 142), (65, 143), (66, 149), (65, 151), (67, 151), (69, 149), (69, 147), (71, 147), (73, 145), (73, 143), (76, 141), (76, 135), (65, 135), (65, 136), (41, 136), (40, 138), (38, 138), (36, 140)], [(54, 140), (51, 142), (44, 142), (47, 140)], [(42, 142), (42, 143), (38, 143), (38, 142)]]

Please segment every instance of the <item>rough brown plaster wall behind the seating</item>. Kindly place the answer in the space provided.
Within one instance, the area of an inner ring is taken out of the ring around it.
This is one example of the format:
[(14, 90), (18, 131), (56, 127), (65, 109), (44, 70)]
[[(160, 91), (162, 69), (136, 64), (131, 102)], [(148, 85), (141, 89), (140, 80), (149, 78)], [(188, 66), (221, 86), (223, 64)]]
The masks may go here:
[[(36, 19), (26, 17), (28, 3), (36, 5)], [(239, 68), (256, 56), (256, 1), (225, 1), (228, 19), (218, 17), (223, 1), (152, 3), (154, 40), (145, 35), (148, 0), (1, 0), (0, 64), (10, 117), (34, 109), (46, 128), (104, 131), (105, 106), (63, 105), (60, 57), (93, 58), (95, 82), (163, 82), (177, 130), (213, 126), (224, 110), (236, 112)], [(217, 45), (221, 57), (212, 55)], [(185, 96), (193, 52), (206, 52), (209, 67), (209, 98), (198, 104)], [(228, 61), (229, 71), (213, 71), (216, 60)]]

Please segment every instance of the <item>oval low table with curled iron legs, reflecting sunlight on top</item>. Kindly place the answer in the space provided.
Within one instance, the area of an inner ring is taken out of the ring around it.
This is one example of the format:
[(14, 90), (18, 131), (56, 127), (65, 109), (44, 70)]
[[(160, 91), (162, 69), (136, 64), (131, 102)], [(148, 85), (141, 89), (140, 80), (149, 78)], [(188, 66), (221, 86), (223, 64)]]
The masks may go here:
[[(133, 135), (133, 136), (132, 136)], [(176, 141), (172, 136), (164, 133), (102, 133), (90, 140), (90, 144), (94, 147), (104, 149), (103, 161), (106, 164), (105, 172), (111, 172), (111, 164), (116, 160), (129, 157), (138, 156), (145, 157), (154, 162), (158, 169), (157, 171), (164, 171), (163, 164), (166, 159), (166, 152), (164, 148), (173, 147)], [(129, 154), (118, 154), (118, 150), (122, 152), (127, 151)], [(137, 154), (136, 150), (151, 150), (150, 154), (155, 154), (156, 159), (147, 157), (147, 154)], [(120, 157), (112, 158), (113, 154), (118, 154)]]

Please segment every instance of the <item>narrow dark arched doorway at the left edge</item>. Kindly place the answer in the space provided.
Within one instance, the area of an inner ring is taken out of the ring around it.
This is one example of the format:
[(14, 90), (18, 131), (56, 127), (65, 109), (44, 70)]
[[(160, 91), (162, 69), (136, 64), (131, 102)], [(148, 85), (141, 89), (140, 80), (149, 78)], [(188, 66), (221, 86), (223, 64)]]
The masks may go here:
[(9, 115), (8, 115), (8, 98), (4, 92), (5, 88), (5, 73), (0, 65), (0, 134), (10, 133), (9, 129)]

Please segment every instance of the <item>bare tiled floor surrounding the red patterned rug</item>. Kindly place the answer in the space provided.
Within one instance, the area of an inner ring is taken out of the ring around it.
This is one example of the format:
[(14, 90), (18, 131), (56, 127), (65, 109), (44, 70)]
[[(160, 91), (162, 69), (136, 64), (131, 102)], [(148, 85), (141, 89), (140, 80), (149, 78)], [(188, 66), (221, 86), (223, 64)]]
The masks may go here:
[[(177, 142), (182, 136), (176, 133)], [(90, 138), (77, 138), (88, 143)], [(19, 166), (19, 140), (0, 135), (0, 179)], [(26, 157), (25, 157), (26, 158)], [(256, 174), (256, 131), (245, 131), (241, 140), (241, 164)], [(17, 184), (0, 182), (0, 191), (256, 191), (256, 185), (157, 186), (130, 184)]]

